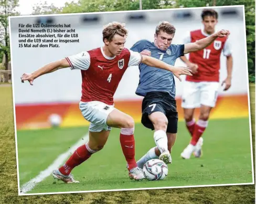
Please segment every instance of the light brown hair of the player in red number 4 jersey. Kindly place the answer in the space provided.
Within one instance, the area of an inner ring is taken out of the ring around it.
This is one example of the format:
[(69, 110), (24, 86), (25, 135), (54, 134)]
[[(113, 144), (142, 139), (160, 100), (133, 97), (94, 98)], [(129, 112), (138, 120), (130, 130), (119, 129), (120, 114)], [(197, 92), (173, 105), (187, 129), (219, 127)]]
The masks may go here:
[(108, 25), (105, 25), (102, 31), (103, 42), (104, 39), (107, 39), (111, 42), (115, 34), (118, 34), (122, 37), (127, 36), (128, 30), (125, 28), (125, 24), (119, 22), (112, 22)]

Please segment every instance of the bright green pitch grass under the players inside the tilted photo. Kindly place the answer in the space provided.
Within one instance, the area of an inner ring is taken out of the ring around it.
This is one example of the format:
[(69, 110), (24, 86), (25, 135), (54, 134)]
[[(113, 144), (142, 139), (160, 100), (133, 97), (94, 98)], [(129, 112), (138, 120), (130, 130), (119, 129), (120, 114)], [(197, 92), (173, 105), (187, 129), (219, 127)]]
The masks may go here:
[[(179, 156), (189, 142), (189, 135), (184, 122), (178, 125), (179, 136), (173, 148), (173, 164), (168, 165), (169, 175), (163, 181), (130, 181), (119, 142), (120, 130), (113, 128), (102, 151), (72, 171), (80, 184), (52, 184), (53, 178), (50, 176), (31, 193), (252, 182), (248, 119), (210, 121), (204, 134), (204, 157), (190, 160), (183, 160)], [(136, 124), (135, 130), (138, 159), (154, 146), (154, 140), (153, 132), (143, 125)], [(40, 170), (46, 169), (58, 155), (68, 151), (87, 132), (87, 127), (18, 131), (20, 184), (23, 185), (38, 175)]]

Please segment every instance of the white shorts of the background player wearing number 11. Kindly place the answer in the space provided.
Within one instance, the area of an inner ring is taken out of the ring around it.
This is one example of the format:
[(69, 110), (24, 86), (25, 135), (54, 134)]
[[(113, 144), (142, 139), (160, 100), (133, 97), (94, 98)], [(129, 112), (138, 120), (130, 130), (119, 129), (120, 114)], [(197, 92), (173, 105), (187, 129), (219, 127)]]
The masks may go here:
[(184, 81), (182, 108), (194, 109), (201, 105), (214, 107), (218, 96), (219, 82)]

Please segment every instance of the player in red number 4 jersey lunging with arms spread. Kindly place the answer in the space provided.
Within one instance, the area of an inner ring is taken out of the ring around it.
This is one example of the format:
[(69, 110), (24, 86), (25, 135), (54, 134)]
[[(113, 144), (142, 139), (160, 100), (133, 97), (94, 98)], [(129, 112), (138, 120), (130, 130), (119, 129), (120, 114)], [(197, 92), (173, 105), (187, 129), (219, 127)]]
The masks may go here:
[(60, 68), (70, 67), (71, 70), (81, 70), (82, 96), (79, 106), (84, 119), (90, 122), (89, 142), (78, 147), (67, 162), (52, 173), (54, 178), (68, 183), (79, 182), (73, 179), (71, 170), (103, 148), (111, 127), (121, 128), (120, 143), (130, 178), (135, 180), (144, 178), (142, 169), (137, 167), (134, 158), (134, 120), (130, 115), (115, 109), (113, 105), (113, 95), (127, 67), (143, 62), (148, 66), (172, 71), (179, 79), (181, 74), (191, 75), (187, 68), (173, 67), (124, 48), (127, 36), (124, 24), (110, 23), (104, 27), (102, 34), (103, 47), (51, 62), (33, 73), (24, 73), (21, 77), (22, 82), (27, 80), (33, 85), (34, 79)]

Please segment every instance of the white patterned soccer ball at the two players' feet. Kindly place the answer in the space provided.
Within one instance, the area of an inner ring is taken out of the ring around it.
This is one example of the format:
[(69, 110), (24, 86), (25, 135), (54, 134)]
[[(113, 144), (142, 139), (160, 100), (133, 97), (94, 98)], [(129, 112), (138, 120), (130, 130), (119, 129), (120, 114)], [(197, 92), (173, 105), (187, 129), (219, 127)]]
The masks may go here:
[(143, 174), (147, 180), (164, 180), (168, 175), (167, 165), (160, 159), (151, 159), (143, 166)]

